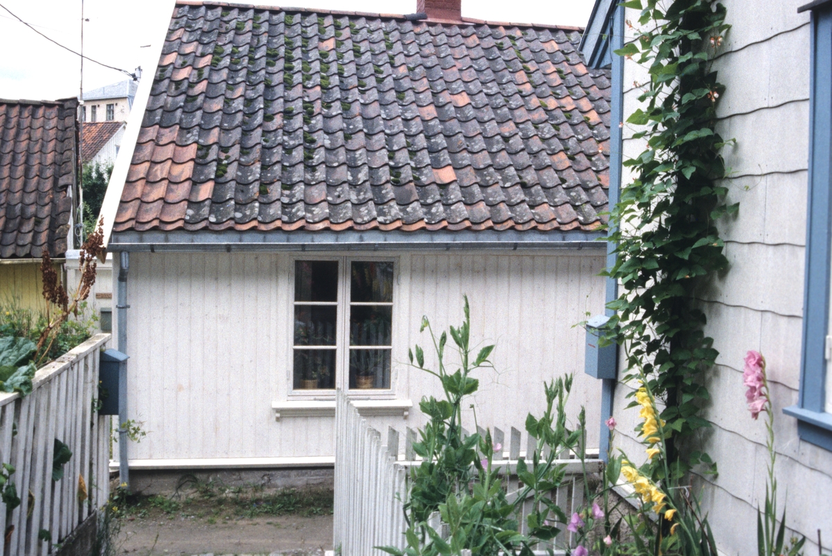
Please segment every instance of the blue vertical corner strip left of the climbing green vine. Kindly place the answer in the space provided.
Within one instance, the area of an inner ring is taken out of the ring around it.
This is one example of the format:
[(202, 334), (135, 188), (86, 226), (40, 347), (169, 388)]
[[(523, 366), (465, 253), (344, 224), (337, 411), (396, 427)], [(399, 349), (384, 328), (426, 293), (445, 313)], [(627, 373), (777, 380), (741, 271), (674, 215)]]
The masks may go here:
[[(612, 117), (610, 130), (610, 188), (609, 206), (610, 209), (618, 204), (621, 199), (622, 168), (623, 168), (623, 121), (624, 121), (624, 58), (618, 56), (615, 51), (624, 47), (624, 18), (625, 8), (618, 6), (612, 16), (612, 31), (610, 48), (612, 50)], [(610, 229), (612, 232), (612, 228)], [(612, 268), (616, 263), (616, 246), (607, 243), (607, 268)], [(607, 278), (607, 303), (618, 298), (618, 281), (615, 278)], [(615, 314), (607, 308), (607, 315)], [(618, 368), (619, 352), (616, 351), (616, 369)], [(607, 427), (607, 420), (612, 417), (612, 398), (616, 391), (617, 378), (602, 379), (601, 381), (601, 439), (599, 451), (601, 459), (607, 461), (607, 454), (610, 450), (612, 433)]]

